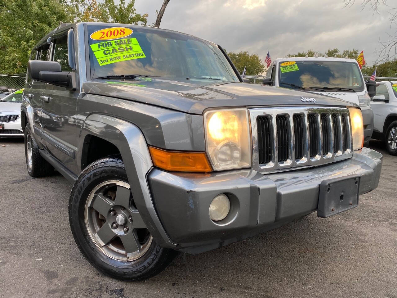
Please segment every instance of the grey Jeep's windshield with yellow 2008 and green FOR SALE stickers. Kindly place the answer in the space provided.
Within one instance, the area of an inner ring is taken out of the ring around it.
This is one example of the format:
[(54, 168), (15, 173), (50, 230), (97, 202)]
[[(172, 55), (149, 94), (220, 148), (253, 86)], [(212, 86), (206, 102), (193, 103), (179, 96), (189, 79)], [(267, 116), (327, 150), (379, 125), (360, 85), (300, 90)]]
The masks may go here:
[(239, 81), (218, 46), (195, 37), (128, 25), (88, 25), (87, 29), (93, 79), (141, 75), (189, 78), (189, 83), (197, 84), (212, 83), (210, 79)]

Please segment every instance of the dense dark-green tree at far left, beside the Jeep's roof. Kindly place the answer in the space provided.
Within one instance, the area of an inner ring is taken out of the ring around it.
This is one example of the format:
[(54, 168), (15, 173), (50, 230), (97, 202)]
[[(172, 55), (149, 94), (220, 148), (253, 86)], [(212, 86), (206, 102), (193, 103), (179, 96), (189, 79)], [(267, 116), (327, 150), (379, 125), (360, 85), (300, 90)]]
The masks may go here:
[(0, 73), (25, 73), (33, 46), (71, 21), (71, 9), (60, 0), (0, 0)]

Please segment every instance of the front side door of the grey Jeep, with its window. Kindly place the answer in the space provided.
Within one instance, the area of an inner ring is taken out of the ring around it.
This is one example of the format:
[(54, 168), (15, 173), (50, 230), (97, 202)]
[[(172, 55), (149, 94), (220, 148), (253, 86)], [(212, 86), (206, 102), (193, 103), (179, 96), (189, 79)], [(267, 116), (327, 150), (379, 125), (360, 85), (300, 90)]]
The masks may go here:
[[(51, 39), (51, 61), (61, 64), (63, 72), (76, 72), (74, 46), (68, 54), (68, 32), (71, 31), (71, 42), (74, 43), (73, 29), (62, 33), (56, 33)], [(73, 57), (71, 57), (73, 56)], [(79, 88), (77, 88), (79, 90)], [(66, 167), (75, 170), (75, 155), (77, 141), (75, 135), (76, 126), (76, 104), (79, 96), (78, 91), (70, 91), (65, 87), (46, 83), (42, 93), (44, 103), (42, 110), (43, 134), (42, 138), (48, 151), (61, 161)]]

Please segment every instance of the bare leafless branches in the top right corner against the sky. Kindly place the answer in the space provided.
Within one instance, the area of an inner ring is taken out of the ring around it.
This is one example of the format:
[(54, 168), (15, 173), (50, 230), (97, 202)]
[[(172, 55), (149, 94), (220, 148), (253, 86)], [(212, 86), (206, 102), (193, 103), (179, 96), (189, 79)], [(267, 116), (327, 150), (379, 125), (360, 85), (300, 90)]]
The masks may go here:
[[(345, 7), (351, 7), (355, 4), (355, 0), (343, 0), (343, 2), (345, 3)], [(374, 14), (379, 14), (380, 6), (386, 6), (390, 15), (389, 25), (391, 28), (397, 29), (397, 6), (391, 7), (386, 2), (387, 0), (361, 0), (361, 8), (364, 9), (368, 7)], [(380, 48), (377, 51), (377, 62), (385, 62), (391, 58), (395, 60), (397, 52), (397, 31), (394, 35), (389, 35), (389, 39), (379, 41), (379, 43)]]

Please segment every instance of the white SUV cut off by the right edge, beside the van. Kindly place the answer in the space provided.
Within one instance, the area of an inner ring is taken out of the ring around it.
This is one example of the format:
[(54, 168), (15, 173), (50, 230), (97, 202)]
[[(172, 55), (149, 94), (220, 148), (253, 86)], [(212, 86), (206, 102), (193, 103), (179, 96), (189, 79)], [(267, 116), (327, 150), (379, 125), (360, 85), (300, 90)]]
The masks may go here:
[(374, 133), (372, 138), (385, 142), (391, 155), (397, 155), (397, 81), (376, 82), (372, 97)]

